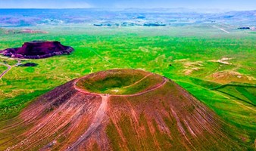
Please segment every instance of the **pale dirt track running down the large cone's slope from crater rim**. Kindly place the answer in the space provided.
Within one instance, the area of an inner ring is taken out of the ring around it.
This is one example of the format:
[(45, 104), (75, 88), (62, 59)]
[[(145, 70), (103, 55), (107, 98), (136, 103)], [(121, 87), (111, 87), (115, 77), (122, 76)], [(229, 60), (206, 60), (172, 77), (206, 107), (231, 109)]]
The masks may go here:
[(99, 106), (94, 119), (92, 121), (92, 124), (89, 126), (87, 131), (78, 139), (75, 143), (70, 146), (67, 151), (69, 150), (75, 150), (76, 146), (79, 146), (83, 140), (86, 140), (90, 135), (98, 128), (99, 125), (101, 125), (101, 122), (105, 118), (107, 107), (108, 107), (108, 95), (101, 94), (101, 105)]

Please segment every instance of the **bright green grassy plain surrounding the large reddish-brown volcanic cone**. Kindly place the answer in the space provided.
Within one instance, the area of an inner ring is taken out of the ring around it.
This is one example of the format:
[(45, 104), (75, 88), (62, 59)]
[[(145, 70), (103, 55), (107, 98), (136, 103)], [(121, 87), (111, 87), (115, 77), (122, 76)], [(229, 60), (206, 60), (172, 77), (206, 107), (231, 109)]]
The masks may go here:
[[(230, 131), (237, 137), (254, 146), (255, 87), (214, 89), (228, 84), (226, 77), (232, 77), (232, 82), (239, 84), (256, 84), (254, 32), (234, 30), (228, 34), (210, 26), (33, 28), (48, 34), (1, 32), (0, 50), (20, 47), (23, 42), (33, 40), (57, 40), (75, 51), (42, 60), (22, 60), (22, 63), (39, 65), (13, 67), (0, 79), (1, 121), (17, 116), (34, 98), (71, 79), (106, 69), (145, 69), (177, 82), (233, 126)], [(229, 64), (216, 61), (223, 57), (232, 59), (228, 60)], [(5, 60), (10, 65), (17, 63), (17, 60), (0, 58), (1, 63)], [(228, 75), (221, 75), (222, 72)]]

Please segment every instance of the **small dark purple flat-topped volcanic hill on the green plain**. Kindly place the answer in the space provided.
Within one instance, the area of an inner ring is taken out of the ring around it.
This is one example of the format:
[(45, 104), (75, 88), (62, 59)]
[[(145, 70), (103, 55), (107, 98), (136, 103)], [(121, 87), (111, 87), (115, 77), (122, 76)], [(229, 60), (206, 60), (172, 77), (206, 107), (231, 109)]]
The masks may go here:
[(8, 48), (0, 51), (8, 57), (26, 58), (26, 59), (42, 59), (61, 54), (70, 54), (73, 48), (61, 45), (61, 42), (33, 41), (25, 42), (21, 48)]

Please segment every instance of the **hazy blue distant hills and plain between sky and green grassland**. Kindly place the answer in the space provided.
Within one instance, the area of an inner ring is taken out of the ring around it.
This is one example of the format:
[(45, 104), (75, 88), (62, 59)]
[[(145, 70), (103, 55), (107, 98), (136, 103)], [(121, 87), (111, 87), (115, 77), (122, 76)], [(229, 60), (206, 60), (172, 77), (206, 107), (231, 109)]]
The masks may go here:
[(186, 8), (0, 9), (0, 27), (63, 24), (88, 24), (92, 26), (94, 24), (110, 24), (116, 26), (122, 23), (127, 23), (128, 26), (154, 23), (167, 26), (186, 26), (201, 23), (256, 26), (256, 11), (221, 12), (218, 10), (198, 11)]

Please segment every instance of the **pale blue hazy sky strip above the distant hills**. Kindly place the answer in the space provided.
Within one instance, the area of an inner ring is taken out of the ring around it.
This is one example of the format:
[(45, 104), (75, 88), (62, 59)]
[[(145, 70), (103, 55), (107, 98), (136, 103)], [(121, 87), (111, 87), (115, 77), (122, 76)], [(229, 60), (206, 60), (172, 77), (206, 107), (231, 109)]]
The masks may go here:
[(256, 0), (0, 0), (0, 8), (217, 8), (256, 10)]

